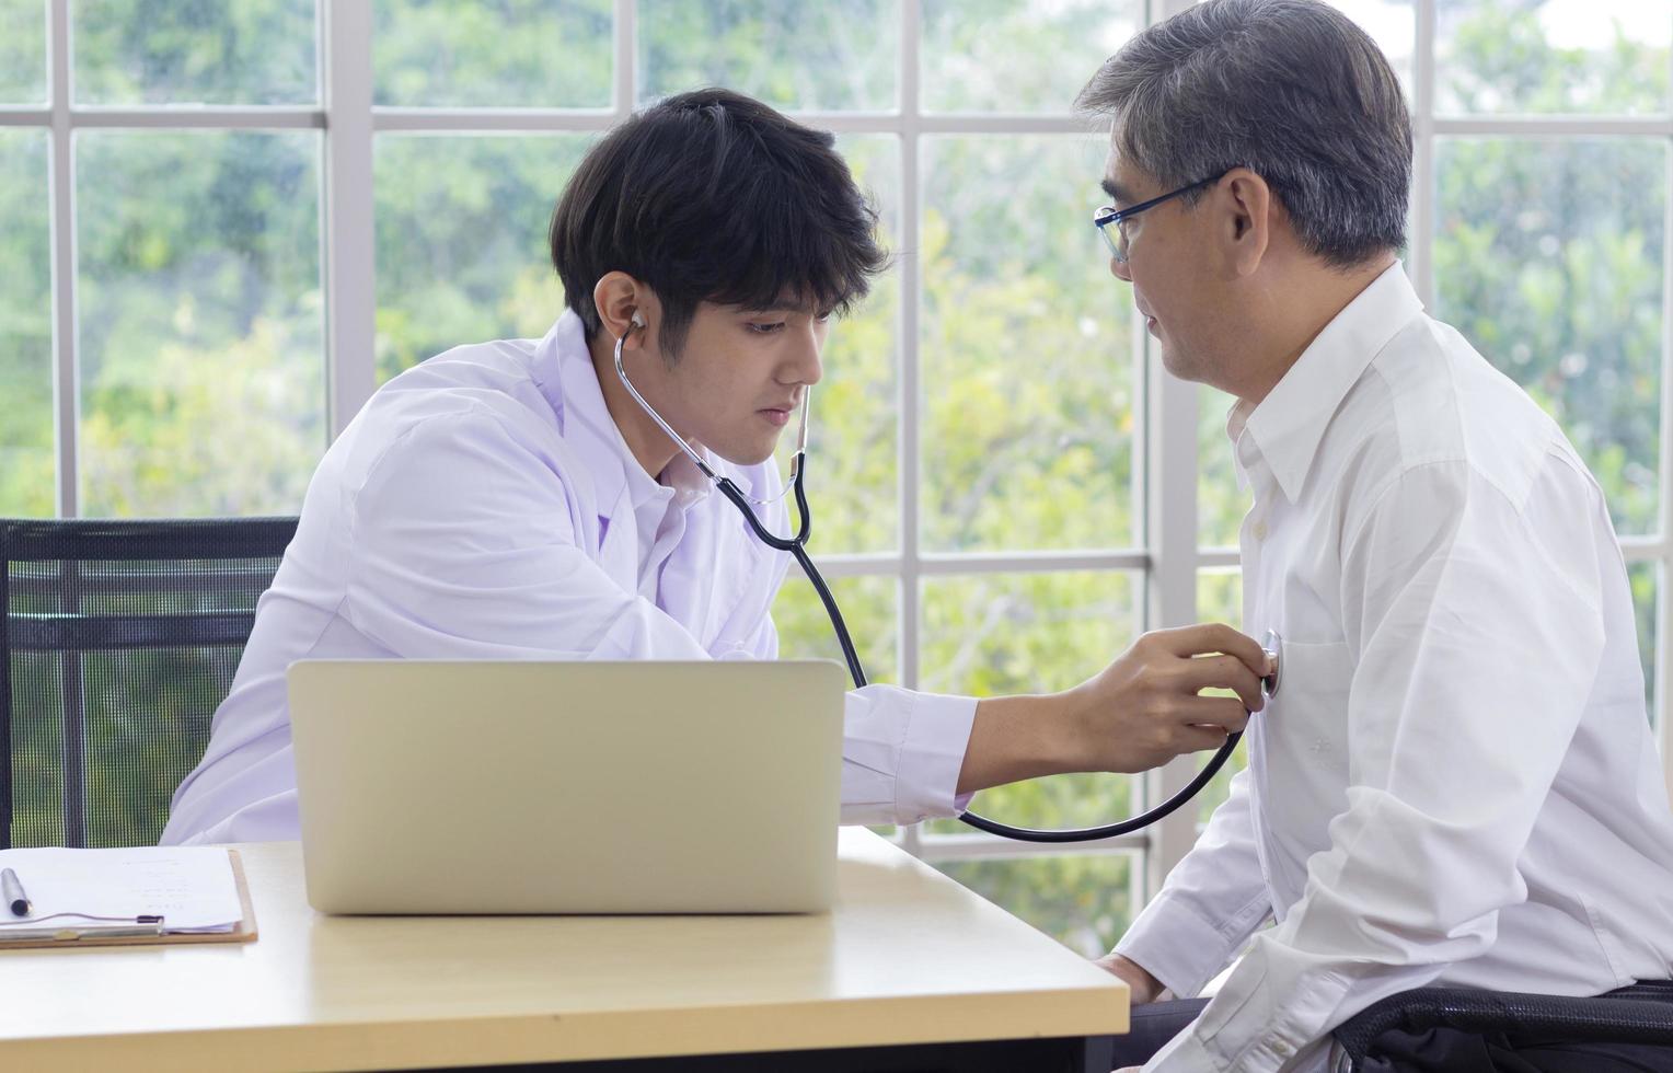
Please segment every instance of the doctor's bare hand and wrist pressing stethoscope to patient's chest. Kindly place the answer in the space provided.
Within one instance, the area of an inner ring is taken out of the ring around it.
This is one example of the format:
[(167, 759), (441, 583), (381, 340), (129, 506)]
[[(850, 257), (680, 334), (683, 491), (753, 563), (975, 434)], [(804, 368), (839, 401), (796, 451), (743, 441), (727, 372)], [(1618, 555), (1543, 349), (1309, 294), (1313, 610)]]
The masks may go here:
[(959, 793), (1066, 772), (1144, 772), (1220, 748), (1260, 710), (1266, 673), (1261, 646), (1230, 626), (1146, 633), (1072, 690), (979, 701)]

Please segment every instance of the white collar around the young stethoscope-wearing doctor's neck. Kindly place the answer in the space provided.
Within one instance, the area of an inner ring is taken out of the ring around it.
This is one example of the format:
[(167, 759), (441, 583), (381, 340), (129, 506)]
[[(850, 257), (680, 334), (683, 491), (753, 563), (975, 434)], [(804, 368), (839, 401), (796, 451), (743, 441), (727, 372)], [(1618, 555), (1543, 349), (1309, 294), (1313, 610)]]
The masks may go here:
[[(540, 340), (534, 372), (540, 393), (557, 417), (557, 430), (570, 447), (581, 452), (587, 465), (601, 512), (607, 512), (624, 489), (632, 506), (659, 495), (663, 487), (674, 489), (673, 499), (683, 509), (708, 497), (713, 487), (709, 479), (684, 452), (674, 455), (674, 460), (663, 470), (661, 480), (654, 480), (639, 465), (604, 403), (599, 375), (592, 365), (592, 350), (587, 347), (587, 333), (574, 310), (559, 316), (552, 330)], [(716, 472), (724, 472), (714, 455), (701, 447), (696, 450)], [(751, 490), (750, 482), (741, 474), (728, 475), (744, 492)]]

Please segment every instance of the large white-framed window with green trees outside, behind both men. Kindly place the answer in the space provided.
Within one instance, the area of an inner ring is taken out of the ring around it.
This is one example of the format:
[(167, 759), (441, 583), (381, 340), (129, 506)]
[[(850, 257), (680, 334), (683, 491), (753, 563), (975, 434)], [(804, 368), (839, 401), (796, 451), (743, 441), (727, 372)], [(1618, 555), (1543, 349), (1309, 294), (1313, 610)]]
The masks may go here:
[[(815, 397), (815, 552), (873, 678), (1072, 685), (1149, 626), (1236, 621), (1226, 400), (1161, 375), (1086, 226), (1069, 112), (1188, 0), (0, 0), (0, 512), (294, 512), (375, 387), (560, 310), (550, 206), (636, 105), (723, 82), (838, 132), (895, 271)], [(1340, 0), (1417, 132), (1407, 266), (1559, 417), (1668, 665), (1673, 15), (1636, 0)], [(161, 13), (159, 13), (161, 12)], [(1502, 47), (1514, 42), (1514, 49)], [(238, 413), (238, 422), (228, 422)], [(835, 656), (810, 586), (786, 655)], [(1651, 711), (1673, 758), (1666, 693)], [(1200, 763), (990, 790), (1129, 815)], [(912, 852), (1084, 952), (1200, 815), (1097, 847), (955, 822)]]

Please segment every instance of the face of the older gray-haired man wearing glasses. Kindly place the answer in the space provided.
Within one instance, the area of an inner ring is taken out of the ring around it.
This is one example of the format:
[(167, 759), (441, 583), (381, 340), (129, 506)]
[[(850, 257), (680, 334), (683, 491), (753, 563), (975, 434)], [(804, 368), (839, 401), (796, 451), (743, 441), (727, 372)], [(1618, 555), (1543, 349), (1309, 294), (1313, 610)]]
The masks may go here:
[[(1104, 189), (1118, 209), (1173, 191), (1118, 152), (1109, 154)], [(1218, 387), (1235, 331), (1225, 323), (1225, 295), (1211, 270), (1213, 193), (1208, 186), (1195, 203), (1173, 198), (1128, 219), (1128, 259), (1111, 258), (1109, 271), (1133, 285), (1133, 305), (1161, 347), (1163, 367), (1181, 380)]]

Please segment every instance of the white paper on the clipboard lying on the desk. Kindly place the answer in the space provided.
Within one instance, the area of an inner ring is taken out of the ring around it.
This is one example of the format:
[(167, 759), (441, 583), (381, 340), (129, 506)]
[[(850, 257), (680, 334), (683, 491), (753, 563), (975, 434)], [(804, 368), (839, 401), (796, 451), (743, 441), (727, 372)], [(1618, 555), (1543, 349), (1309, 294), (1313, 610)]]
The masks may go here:
[[(30, 902), (27, 917), (0, 906), (0, 941), (7, 927), (130, 929), (137, 916), (161, 916), (166, 932), (226, 932), (244, 917), (233, 859), (214, 845), (0, 849), (0, 869)], [(65, 912), (84, 916), (54, 916)]]

